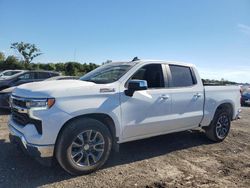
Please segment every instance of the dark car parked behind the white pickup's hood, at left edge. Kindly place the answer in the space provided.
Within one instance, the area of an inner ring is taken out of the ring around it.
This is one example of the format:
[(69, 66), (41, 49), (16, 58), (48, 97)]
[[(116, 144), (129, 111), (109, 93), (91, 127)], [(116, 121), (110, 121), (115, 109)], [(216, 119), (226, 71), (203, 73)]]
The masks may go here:
[(13, 89), (21, 84), (43, 81), (59, 76), (60, 73), (52, 71), (21, 71), (9, 77), (0, 77), (0, 109), (9, 109), (9, 96)]

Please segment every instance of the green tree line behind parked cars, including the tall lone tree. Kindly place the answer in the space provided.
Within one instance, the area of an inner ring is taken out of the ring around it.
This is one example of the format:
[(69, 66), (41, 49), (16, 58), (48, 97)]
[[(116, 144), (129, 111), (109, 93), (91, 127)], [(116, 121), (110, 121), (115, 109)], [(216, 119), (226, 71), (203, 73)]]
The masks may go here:
[(42, 55), (40, 49), (30, 43), (13, 43), (11, 49), (20, 53), (22, 59), (18, 59), (14, 55), (5, 57), (4, 53), (0, 52), (0, 71), (8, 69), (19, 70), (49, 70), (61, 72), (63, 75), (81, 76), (87, 72), (97, 68), (99, 65), (95, 63), (79, 63), (79, 62), (59, 62), (59, 63), (33, 63), (32, 60), (39, 55)]

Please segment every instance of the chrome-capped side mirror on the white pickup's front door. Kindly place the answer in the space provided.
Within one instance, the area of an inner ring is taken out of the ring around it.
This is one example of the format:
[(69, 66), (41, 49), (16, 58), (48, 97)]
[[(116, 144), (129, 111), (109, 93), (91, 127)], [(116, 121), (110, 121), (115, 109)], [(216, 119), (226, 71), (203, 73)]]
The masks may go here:
[(147, 89), (148, 83), (146, 80), (129, 80), (128, 89), (125, 90), (125, 95), (132, 97), (135, 91)]

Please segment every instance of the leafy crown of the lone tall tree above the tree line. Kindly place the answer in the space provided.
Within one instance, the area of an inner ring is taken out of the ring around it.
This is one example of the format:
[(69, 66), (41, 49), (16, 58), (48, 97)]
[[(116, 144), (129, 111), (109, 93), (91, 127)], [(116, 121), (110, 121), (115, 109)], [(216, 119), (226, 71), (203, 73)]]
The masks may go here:
[(30, 43), (15, 42), (11, 44), (10, 48), (17, 50), (23, 56), (26, 64), (30, 64), (35, 57), (42, 54), (35, 44)]

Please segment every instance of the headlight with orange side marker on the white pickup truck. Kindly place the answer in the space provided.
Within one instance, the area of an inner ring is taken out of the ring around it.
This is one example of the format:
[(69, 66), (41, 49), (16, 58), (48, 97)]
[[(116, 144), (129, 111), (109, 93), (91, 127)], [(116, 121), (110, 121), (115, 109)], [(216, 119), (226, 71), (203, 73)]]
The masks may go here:
[(44, 110), (49, 109), (55, 104), (55, 99), (32, 99), (26, 102), (26, 107), (29, 109)]

